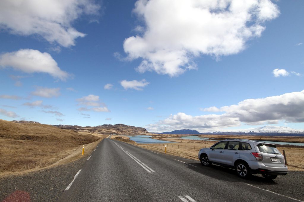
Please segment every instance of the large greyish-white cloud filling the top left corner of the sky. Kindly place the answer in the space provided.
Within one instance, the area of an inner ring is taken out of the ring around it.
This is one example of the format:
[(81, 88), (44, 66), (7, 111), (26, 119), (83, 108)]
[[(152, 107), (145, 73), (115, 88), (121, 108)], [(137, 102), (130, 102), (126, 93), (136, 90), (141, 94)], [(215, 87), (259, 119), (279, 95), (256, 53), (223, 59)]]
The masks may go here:
[(100, 5), (91, 0), (0, 1), (0, 29), (16, 35), (40, 35), (64, 47), (85, 34), (72, 27), (81, 15), (96, 15)]

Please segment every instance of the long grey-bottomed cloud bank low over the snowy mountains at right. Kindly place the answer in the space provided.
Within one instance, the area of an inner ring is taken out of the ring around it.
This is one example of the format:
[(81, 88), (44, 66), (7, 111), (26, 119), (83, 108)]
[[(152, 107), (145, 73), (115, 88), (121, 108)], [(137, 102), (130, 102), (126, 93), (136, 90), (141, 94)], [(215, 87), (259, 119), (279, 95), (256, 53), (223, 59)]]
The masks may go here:
[[(259, 99), (247, 99), (238, 104), (216, 108), (223, 114), (192, 116), (185, 113), (171, 115), (156, 124), (147, 126), (149, 131), (160, 129), (195, 129), (199, 131), (220, 130), (223, 127), (237, 127), (241, 124), (275, 124), (279, 121), (304, 122), (304, 90)], [(214, 110), (214, 107), (204, 111)]]

